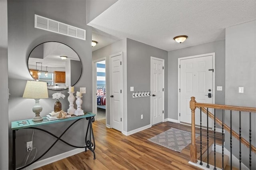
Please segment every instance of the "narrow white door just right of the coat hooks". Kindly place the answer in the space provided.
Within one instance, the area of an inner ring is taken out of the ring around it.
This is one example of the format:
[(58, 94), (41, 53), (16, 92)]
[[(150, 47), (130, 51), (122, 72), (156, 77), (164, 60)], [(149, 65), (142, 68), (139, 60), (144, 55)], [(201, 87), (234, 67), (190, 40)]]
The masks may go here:
[(164, 121), (164, 59), (151, 57), (152, 125)]

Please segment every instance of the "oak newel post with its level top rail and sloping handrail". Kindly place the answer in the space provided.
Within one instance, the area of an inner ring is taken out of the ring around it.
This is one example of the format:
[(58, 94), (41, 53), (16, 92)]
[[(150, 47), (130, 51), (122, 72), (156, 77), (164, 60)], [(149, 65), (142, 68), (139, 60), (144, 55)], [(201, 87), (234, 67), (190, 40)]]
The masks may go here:
[[(246, 111), (246, 112), (256, 112), (256, 108), (254, 107), (239, 107), (239, 106), (229, 106), (229, 105), (215, 105), (215, 104), (208, 104), (208, 103), (196, 103), (195, 97), (191, 97), (190, 100), (190, 109), (191, 109), (191, 146), (190, 146), (190, 161), (193, 163), (197, 162), (197, 157), (196, 157), (196, 137), (195, 137), (195, 110), (196, 108), (203, 108), (203, 112), (206, 111), (206, 108), (213, 108), (213, 109), (224, 109), (224, 110), (232, 110), (232, 111)], [(204, 112), (205, 113), (205, 112)], [(207, 111), (206, 111), (207, 113)], [(208, 115), (210, 115), (210, 117), (212, 119), (214, 119), (214, 116), (212, 115), (212, 113), (210, 113), (208, 111)], [(212, 117), (213, 116), (213, 117)], [(221, 123), (219, 125), (222, 126), (222, 122), (218, 119), (216, 119), (217, 123)], [(230, 132), (230, 127), (228, 127), (226, 124), (224, 124), (224, 128), (226, 130), (228, 130)], [(235, 138), (237, 138), (239, 140), (239, 135), (234, 132), (232, 130), (232, 136), (234, 136)], [(249, 147), (250, 144), (248, 141), (246, 141), (244, 138), (241, 138), (241, 142), (246, 146)], [(256, 154), (256, 148), (254, 146), (251, 147), (252, 151)]]

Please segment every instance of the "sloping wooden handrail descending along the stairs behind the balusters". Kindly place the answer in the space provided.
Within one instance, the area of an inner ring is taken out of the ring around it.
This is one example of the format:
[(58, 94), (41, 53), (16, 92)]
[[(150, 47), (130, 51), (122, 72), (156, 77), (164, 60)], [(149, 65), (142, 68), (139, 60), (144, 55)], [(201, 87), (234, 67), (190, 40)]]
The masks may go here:
[[(197, 107), (198, 109), (200, 109), (200, 107)], [(206, 113), (207, 114), (207, 110), (204, 108), (204, 107), (201, 107), (202, 108), (202, 112)], [(208, 116), (214, 120), (214, 115), (208, 111)], [(215, 121), (216, 123), (218, 123), (218, 125), (222, 126), (222, 121), (220, 121), (218, 118), (215, 117)], [(228, 130), (228, 132), (230, 132), (230, 127), (228, 127), (226, 124), (223, 124), (224, 126), (224, 129), (225, 130)], [(232, 136), (234, 136), (235, 138), (237, 138), (239, 140), (239, 134), (236, 133), (234, 130), (232, 130)], [(250, 147), (250, 143), (245, 140), (243, 137), (241, 137), (241, 143), (244, 144), (247, 148)], [(252, 152), (254, 152), (256, 154), (256, 148), (255, 146), (252, 146)]]

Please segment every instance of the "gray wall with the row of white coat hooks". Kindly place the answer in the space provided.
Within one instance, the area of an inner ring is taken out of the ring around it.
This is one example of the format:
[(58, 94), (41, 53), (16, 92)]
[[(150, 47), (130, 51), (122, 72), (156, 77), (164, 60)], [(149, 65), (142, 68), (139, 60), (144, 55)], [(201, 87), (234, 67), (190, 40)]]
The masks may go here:
[[(168, 53), (131, 39), (127, 39), (127, 131), (150, 125), (150, 97), (132, 98), (134, 91), (150, 91), (150, 57), (164, 59), (165, 118), (168, 108)], [(140, 115), (143, 114), (143, 119)]]

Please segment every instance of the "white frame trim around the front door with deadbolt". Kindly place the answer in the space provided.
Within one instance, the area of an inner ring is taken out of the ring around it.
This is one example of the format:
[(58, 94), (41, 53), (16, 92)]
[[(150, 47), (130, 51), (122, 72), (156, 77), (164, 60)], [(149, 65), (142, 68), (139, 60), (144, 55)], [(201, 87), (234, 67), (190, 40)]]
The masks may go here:
[[(183, 59), (191, 59), (191, 58), (197, 58), (197, 57), (204, 57), (204, 56), (208, 56), (208, 55), (212, 55), (212, 69), (214, 69), (213, 71), (213, 75), (212, 75), (212, 103), (215, 104), (215, 53), (206, 53), (206, 54), (200, 54), (200, 55), (192, 55), (192, 56), (188, 56), (188, 57), (181, 57), (178, 58), (178, 123), (180, 123), (180, 60)], [(214, 128), (212, 126), (212, 128)]]

